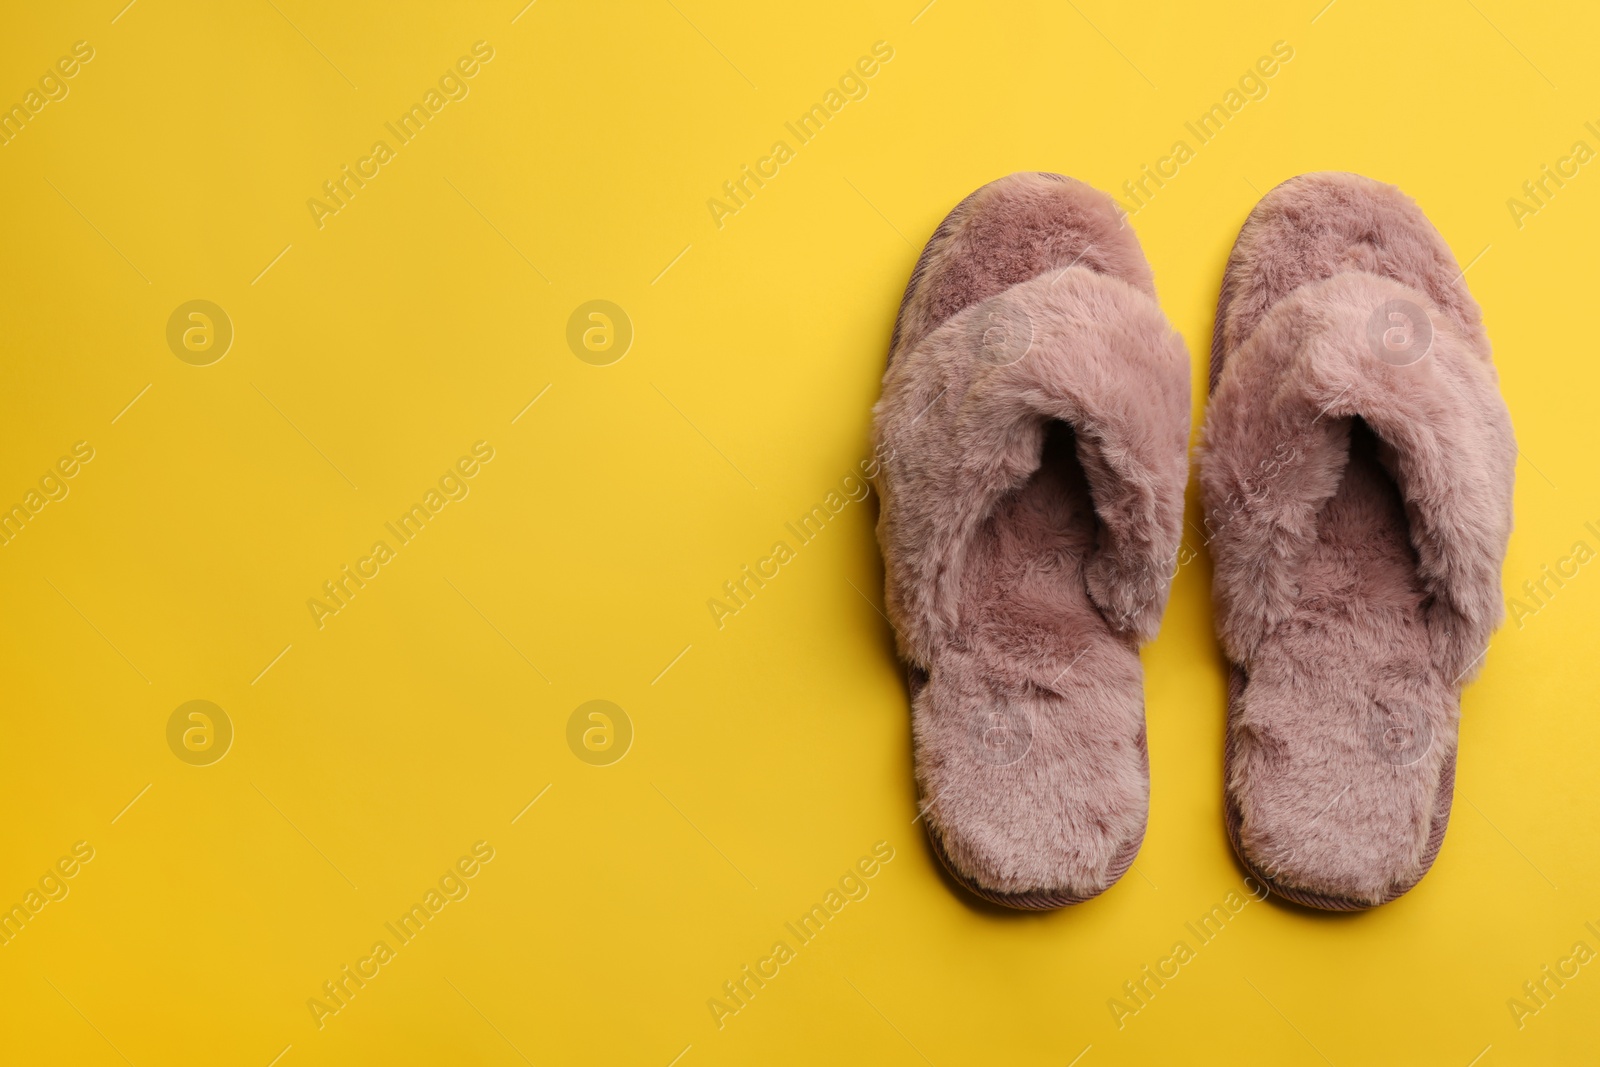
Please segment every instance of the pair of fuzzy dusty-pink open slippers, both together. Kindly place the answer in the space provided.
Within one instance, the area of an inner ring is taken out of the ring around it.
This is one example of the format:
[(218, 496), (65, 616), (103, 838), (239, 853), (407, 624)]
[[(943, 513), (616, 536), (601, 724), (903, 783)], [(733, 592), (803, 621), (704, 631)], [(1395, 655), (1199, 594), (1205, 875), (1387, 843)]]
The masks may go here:
[[(1189, 397), (1104, 194), (1013, 174), (923, 250), (875, 410), (878, 541), (928, 837), (989, 901), (1086, 901), (1139, 851), (1138, 646), (1178, 568)], [(1418, 206), (1354, 174), (1274, 189), (1222, 280), (1200, 483), (1227, 833), (1285, 899), (1371, 907), (1434, 862), (1514, 466), (1478, 307)]]

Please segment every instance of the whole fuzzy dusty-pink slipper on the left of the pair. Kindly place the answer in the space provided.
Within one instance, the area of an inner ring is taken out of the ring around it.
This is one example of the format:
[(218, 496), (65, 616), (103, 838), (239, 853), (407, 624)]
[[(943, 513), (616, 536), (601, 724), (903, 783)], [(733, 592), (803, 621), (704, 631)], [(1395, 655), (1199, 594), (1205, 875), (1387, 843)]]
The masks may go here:
[(922, 809), (973, 893), (1085, 901), (1144, 838), (1138, 641), (1182, 526), (1189, 360), (1109, 197), (984, 186), (912, 272), (875, 408)]

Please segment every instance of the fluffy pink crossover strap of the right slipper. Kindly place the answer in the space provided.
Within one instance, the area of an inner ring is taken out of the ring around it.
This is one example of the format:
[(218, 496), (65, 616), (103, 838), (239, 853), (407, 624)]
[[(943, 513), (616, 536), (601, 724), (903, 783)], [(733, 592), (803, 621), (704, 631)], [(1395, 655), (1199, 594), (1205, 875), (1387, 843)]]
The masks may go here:
[(1248, 669), (1291, 614), (1357, 416), (1405, 501), (1434, 665), (1461, 683), (1504, 616), (1510, 416), (1482, 334), (1464, 338), (1419, 291), (1370, 274), (1294, 290), (1222, 366), (1200, 466), (1222, 643)]

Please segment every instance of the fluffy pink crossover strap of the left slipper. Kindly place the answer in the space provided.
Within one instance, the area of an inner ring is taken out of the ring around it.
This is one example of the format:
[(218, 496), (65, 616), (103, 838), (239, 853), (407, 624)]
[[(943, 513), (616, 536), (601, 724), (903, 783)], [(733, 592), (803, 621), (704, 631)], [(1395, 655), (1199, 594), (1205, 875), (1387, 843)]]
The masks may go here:
[(875, 414), (907, 659), (931, 664), (957, 632), (965, 555), (1038, 469), (1053, 419), (1074, 430), (1099, 520), (1088, 593), (1117, 630), (1154, 637), (1182, 533), (1189, 358), (1149, 296), (1083, 267), (1018, 283), (898, 354)]

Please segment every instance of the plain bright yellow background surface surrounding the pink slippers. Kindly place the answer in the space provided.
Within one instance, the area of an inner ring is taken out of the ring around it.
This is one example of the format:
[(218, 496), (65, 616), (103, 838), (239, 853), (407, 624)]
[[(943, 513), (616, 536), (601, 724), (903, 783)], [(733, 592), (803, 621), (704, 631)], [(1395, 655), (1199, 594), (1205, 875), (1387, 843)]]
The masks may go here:
[[(1506, 203), (1600, 149), (1590, 6), (122, 3), (0, 34), (0, 102), (94, 48), (0, 147), (0, 502), (96, 450), (0, 547), (0, 902), (94, 848), (0, 947), (5, 1061), (1595, 1062), (1600, 965), (1522, 1029), (1507, 1000), (1600, 949), (1600, 565), (1494, 638), (1413, 893), (1251, 904), (1120, 1030), (1107, 1000), (1242, 886), (1203, 550), (1144, 653), (1138, 870), (1046, 915), (962, 896), (912, 824), (875, 498), (720, 630), (706, 606), (866, 458), (960, 197), (1117, 190), (1278, 40), (1269, 96), (1134, 219), (1195, 422), (1259, 194), (1392, 181), (1472, 261), (1523, 454), (1507, 595), (1600, 547), (1600, 165), (1522, 227)], [(307, 198), (477, 40), (470, 94), (318, 229)], [(869, 94), (718, 229), (707, 198), (878, 40)], [(210, 366), (166, 346), (190, 299), (234, 323)], [(635, 328), (610, 366), (565, 341), (590, 299)], [(318, 630), (307, 598), (478, 440), (470, 496)], [(166, 744), (190, 699), (235, 728), (210, 766)], [(611, 766), (566, 745), (590, 699), (635, 729)], [(470, 896), (318, 1030), (307, 998), (480, 840)], [(880, 840), (870, 896), (718, 1030), (707, 1000)]]

